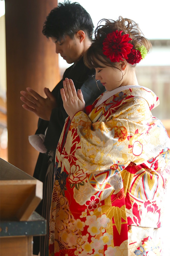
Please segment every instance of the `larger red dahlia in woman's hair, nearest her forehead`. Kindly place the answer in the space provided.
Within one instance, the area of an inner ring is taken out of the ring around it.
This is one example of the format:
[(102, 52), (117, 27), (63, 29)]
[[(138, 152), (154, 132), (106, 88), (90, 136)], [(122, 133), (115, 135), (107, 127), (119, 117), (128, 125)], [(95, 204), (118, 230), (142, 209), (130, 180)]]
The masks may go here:
[(128, 59), (133, 45), (129, 43), (132, 38), (129, 34), (121, 35), (123, 31), (113, 31), (109, 33), (103, 41), (103, 54), (110, 58), (112, 62), (123, 61), (122, 58)]

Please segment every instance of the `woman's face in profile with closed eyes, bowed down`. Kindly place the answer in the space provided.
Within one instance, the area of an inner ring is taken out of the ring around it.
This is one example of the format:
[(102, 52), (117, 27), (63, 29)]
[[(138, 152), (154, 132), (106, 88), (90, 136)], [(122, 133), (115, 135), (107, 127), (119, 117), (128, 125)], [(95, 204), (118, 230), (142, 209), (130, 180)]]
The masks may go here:
[(96, 80), (100, 80), (107, 91), (112, 91), (120, 86), (125, 86), (124, 70), (121, 70), (121, 62), (118, 63), (118, 68), (102, 65), (102, 68), (95, 68)]

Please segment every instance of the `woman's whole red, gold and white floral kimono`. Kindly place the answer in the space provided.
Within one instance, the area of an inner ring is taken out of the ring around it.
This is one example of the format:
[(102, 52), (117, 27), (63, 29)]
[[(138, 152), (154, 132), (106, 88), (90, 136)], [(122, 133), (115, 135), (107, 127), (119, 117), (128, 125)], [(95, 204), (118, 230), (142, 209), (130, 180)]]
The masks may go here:
[(57, 150), (50, 256), (162, 256), (170, 140), (140, 86), (103, 93), (66, 120)]

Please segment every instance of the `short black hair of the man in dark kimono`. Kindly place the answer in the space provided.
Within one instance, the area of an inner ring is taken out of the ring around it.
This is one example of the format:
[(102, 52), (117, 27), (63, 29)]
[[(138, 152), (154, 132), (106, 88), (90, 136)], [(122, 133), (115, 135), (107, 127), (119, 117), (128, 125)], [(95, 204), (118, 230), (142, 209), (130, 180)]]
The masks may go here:
[(73, 38), (77, 31), (83, 30), (91, 38), (93, 28), (90, 15), (79, 3), (64, 1), (48, 14), (42, 32), (47, 38), (60, 40), (66, 35)]

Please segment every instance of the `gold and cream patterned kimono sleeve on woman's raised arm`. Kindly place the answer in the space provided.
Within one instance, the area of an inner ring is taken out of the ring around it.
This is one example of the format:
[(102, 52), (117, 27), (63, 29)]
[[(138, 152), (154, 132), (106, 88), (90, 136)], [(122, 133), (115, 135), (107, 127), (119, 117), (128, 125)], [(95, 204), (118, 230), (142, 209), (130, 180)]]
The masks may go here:
[(130, 162), (139, 165), (163, 150), (163, 126), (152, 118), (145, 99), (133, 98), (119, 111), (109, 111), (107, 119), (102, 115), (94, 123), (82, 111), (74, 116), (62, 156), (66, 169), (72, 161), (87, 173), (126, 167)]

